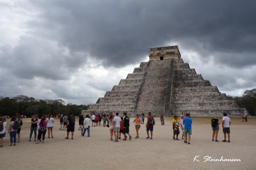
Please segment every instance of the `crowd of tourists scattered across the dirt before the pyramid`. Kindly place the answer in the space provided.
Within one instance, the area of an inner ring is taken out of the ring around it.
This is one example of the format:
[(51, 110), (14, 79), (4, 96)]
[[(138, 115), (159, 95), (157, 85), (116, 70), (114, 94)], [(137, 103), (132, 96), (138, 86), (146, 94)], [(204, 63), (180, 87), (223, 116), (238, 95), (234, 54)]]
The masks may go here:
[[(244, 114), (243, 114), (244, 115)], [(90, 119), (91, 116), (91, 119)], [(20, 130), (22, 127), (22, 117), (19, 113), (16, 113), (15, 116), (13, 116), (10, 120), (9, 128), (8, 128), (8, 134), (10, 134), (10, 146), (15, 146), (16, 143), (20, 142)], [(247, 121), (247, 116), (243, 116), (243, 119)], [(141, 128), (141, 124), (144, 124), (144, 113), (140, 112), (136, 115), (136, 118), (133, 120), (133, 123), (135, 123), (135, 130), (136, 130), (136, 137), (135, 139), (139, 138), (139, 129)], [(121, 134), (124, 136), (122, 139), (123, 141), (127, 140), (129, 137), (129, 140), (132, 139), (132, 136), (130, 135), (130, 117), (127, 116), (127, 113), (123, 113), (122, 115), (119, 115), (119, 113), (91, 113), (91, 115), (87, 114), (85, 117), (80, 113), (78, 116), (78, 123), (79, 128), (78, 130), (81, 130), (81, 136), (85, 135), (85, 132), (87, 130), (87, 136), (90, 137), (90, 122), (92, 121), (92, 126), (101, 126), (101, 121), (103, 119), (103, 127), (108, 127), (110, 130), (110, 140), (118, 142), (118, 139), (121, 139)], [(69, 116), (67, 114), (60, 115), (60, 118), (58, 119), (60, 122), (60, 130), (67, 131), (67, 137), (65, 139), (69, 139), (69, 133), (71, 132), (71, 139), (73, 139), (74, 131), (75, 131), (75, 117), (70, 113)], [(161, 125), (164, 125), (164, 115), (160, 115), (160, 122)], [(44, 143), (45, 140), (45, 134), (48, 131), (48, 138), (53, 138), (53, 124), (54, 119), (52, 118), (52, 115), (49, 114), (48, 116), (42, 116), (42, 115), (33, 115), (33, 118), (31, 119), (31, 127), (30, 127), (30, 136), (29, 141), (31, 141), (33, 132), (34, 132), (34, 141), (36, 141), (36, 144), (39, 142)], [(107, 125), (106, 125), (107, 124)], [(230, 118), (227, 117), (226, 113), (223, 113), (222, 118), (222, 128), (224, 133), (224, 140), (223, 142), (226, 142), (226, 134), (228, 134), (228, 142), (230, 142)], [(63, 128), (62, 128), (63, 125)], [(155, 125), (155, 120), (151, 116), (151, 112), (148, 112), (147, 122), (146, 122), (146, 132), (147, 132), (147, 138), (146, 139), (153, 139), (153, 129)], [(213, 119), (211, 120), (211, 126), (213, 130), (212, 134), (212, 141), (218, 142), (218, 131), (219, 131), (219, 125), (220, 122), (217, 119), (217, 116), (214, 115)], [(178, 120), (178, 116), (174, 116), (174, 119), (172, 121), (173, 126), (173, 139), (179, 140), (178, 136), (180, 134), (180, 128), (182, 131), (182, 138), (184, 139), (184, 143), (190, 144), (190, 138), (192, 135), (192, 119), (190, 118), (189, 113), (182, 113), (180, 116), (180, 120)], [(1, 139), (1, 147), (3, 147), (3, 138), (6, 134), (6, 118), (4, 116), (0, 117), (0, 139)], [(150, 134), (149, 134), (150, 132)], [(51, 133), (51, 136), (50, 136)], [(18, 134), (18, 135), (17, 135)], [(17, 137), (18, 136), (18, 140)], [(114, 135), (114, 138), (113, 138)], [(176, 136), (176, 137), (175, 137)]]

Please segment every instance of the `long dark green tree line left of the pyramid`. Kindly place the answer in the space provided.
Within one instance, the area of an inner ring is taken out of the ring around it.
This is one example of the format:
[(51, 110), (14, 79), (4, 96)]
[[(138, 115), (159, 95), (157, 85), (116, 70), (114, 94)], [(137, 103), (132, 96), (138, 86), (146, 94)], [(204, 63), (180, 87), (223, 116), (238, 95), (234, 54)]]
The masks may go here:
[(74, 105), (61, 99), (57, 100), (37, 100), (33, 97), (24, 95), (17, 95), (16, 97), (2, 97), (0, 96), (0, 116), (9, 115), (14, 116), (16, 113), (21, 115), (58, 115), (72, 113), (74, 116), (79, 115), (82, 110), (87, 110), (89, 105)]

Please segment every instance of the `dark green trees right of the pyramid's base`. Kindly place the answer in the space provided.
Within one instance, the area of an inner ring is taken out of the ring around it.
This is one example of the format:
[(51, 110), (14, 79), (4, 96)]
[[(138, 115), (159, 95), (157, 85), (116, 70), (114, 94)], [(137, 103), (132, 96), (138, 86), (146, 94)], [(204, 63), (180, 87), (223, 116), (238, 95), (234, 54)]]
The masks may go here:
[(245, 90), (242, 96), (227, 95), (229, 100), (235, 100), (240, 108), (246, 108), (251, 116), (256, 116), (256, 88)]

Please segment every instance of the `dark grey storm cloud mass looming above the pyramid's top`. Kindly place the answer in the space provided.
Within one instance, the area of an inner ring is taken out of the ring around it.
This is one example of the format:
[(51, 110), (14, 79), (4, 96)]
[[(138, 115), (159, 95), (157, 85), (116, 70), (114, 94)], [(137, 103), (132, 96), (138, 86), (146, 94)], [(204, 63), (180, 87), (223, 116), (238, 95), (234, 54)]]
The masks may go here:
[[(192, 39), (214, 61), (252, 65), (255, 55), (255, 1), (31, 1), (41, 7), (34, 30), (52, 30), (53, 38), (71, 51), (103, 59), (105, 66), (121, 67), (140, 60), (147, 49), (177, 41), (182, 48)], [(40, 22), (41, 21), (41, 22)], [(39, 35), (38, 31), (32, 34)], [(172, 45), (172, 44), (170, 44)], [(199, 50), (188, 44), (191, 49)], [(200, 51), (198, 51), (200, 52)], [(239, 59), (243, 53), (243, 61)], [(208, 57), (208, 56), (202, 56)], [(222, 58), (222, 59), (220, 59)], [(224, 59), (223, 59), (224, 58)]]

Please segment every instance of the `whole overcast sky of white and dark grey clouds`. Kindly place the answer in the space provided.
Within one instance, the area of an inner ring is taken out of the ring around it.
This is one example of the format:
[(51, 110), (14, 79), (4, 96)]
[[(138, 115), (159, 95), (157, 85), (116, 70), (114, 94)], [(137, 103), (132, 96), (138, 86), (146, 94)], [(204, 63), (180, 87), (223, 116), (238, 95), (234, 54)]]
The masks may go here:
[(227, 95), (256, 87), (256, 1), (0, 0), (0, 95), (96, 103), (148, 48)]

